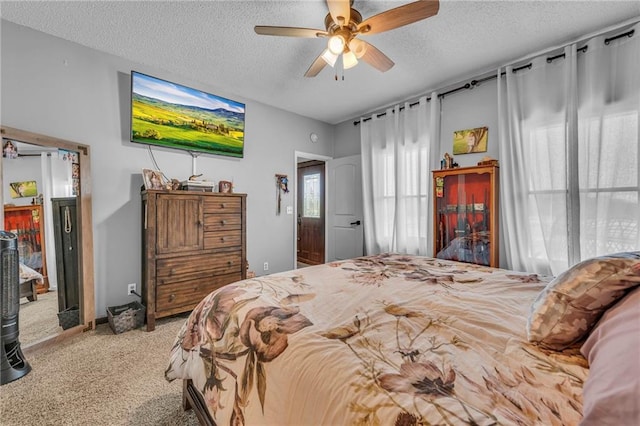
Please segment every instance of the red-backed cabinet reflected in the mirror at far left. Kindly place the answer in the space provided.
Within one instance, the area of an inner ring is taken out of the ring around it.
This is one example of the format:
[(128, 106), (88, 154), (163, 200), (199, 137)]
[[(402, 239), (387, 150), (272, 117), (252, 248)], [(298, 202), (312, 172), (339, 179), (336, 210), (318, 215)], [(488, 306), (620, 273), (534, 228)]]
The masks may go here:
[(42, 205), (4, 206), (4, 229), (18, 236), (20, 262), (42, 274), (36, 284), (38, 294), (49, 291)]

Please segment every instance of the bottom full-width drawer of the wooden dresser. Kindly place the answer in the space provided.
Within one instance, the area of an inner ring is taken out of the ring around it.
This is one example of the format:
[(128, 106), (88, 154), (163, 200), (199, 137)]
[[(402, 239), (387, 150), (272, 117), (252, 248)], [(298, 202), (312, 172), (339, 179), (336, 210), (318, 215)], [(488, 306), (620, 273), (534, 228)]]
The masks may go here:
[(167, 315), (193, 309), (213, 290), (242, 279), (242, 274), (172, 281), (156, 287), (156, 310)]

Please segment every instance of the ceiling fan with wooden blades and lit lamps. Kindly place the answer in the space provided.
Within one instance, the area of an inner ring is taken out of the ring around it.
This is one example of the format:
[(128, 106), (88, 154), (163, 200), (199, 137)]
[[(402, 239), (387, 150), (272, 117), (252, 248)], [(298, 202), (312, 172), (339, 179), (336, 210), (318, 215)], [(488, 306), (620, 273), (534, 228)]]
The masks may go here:
[(372, 67), (385, 72), (394, 63), (387, 55), (358, 36), (378, 34), (434, 16), (440, 9), (438, 0), (419, 0), (405, 4), (362, 20), (362, 15), (351, 8), (353, 0), (327, 0), (329, 13), (324, 18), (324, 30), (297, 27), (256, 25), (260, 35), (286, 37), (327, 37), (327, 48), (311, 64), (305, 77), (315, 77), (326, 66), (334, 66), (342, 55), (344, 69), (354, 67), (362, 59)]

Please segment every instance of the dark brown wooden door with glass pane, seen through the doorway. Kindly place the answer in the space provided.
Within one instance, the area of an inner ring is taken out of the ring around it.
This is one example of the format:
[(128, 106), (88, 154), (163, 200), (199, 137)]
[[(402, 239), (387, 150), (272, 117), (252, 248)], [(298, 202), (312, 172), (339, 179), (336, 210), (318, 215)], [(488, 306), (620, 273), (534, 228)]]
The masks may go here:
[(306, 161), (298, 164), (297, 261), (307, 265), (324, 263), (324, 182), (325, 164)]

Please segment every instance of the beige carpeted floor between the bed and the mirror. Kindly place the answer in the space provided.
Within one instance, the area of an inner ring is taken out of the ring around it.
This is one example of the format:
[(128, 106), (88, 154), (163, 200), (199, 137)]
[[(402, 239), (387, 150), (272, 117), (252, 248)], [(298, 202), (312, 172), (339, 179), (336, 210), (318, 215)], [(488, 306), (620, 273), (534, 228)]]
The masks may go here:
[(32, 371), (0, 387), (0, 424), (197, 425), (182, 382), (164, 370), (186, 316), (113, 334), (108, 324), (31, 354)]

